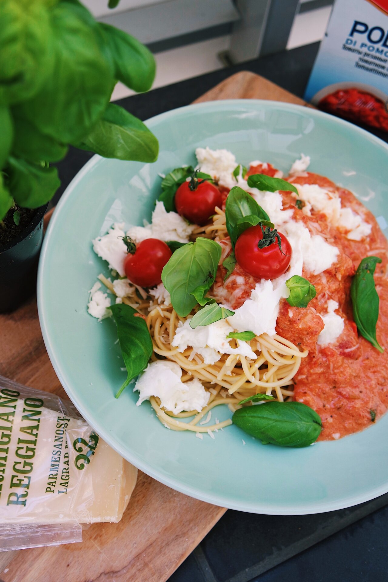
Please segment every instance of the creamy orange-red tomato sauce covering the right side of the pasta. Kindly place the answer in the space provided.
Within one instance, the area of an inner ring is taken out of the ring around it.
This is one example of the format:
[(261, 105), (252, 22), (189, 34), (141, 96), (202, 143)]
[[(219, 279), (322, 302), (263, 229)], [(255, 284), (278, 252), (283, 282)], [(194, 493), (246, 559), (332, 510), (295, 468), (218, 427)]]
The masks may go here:
[[(260, 165), (250, 168), (251, 173), (275, 175), (273, 166)], [(319, 234), (329, 244), (337, 247), (339, 254), (332, 267), (319, 275), (309, 271), (302, 275), (315, 285), (316, 297), (306, 308), (290, 307), (280, 301), (276, 331), (294, 342), (301, 349), (308, 349), (307, 358), (294, 377), (294, 398), (311, 406), (322, 418), (323, 430), (319, 440), (338, 439), (371, 425), (388, 408), (388, 356), (379, 353), (371, 343), (358, 335), (353, 321), (350, 299), (352, 277), (362, 258), (376, 255), (382, 259), (375, 271), (376, 290), (380, 298), (377, 339), (388, 349), (388, 243), (375, 218), (354, 195), (337, 187), (328, 178), (310, 172), (292, 176), (296, 184), (318, 184), (336, 192), (343, 207), (361, 214), (372, 226), (371, 234), (361, 241), (349, 240), (328, 222), (325, 214), (311, 210), (306, 216), (296, 208), (296, 197), (282, 192), (283, 210), (292, 209), (293, 219), (302, 221), (312, 235)], [(230, 240), (221, 241), (222, 260), (230, 254)], [(240, 307), (248, 299), (258, 279), (248, 275), (236, 265), (232, 275), (223, 282), (226, 270), (220, 266), (212, 294), (218, 301), (225, 301), (232, 308)], [(320, 314), (327, 313), (328, 300), (337, 301), (336, 314), (344, 319), (344, 329), (334, 343), (317, 344), (323, 329)]]

